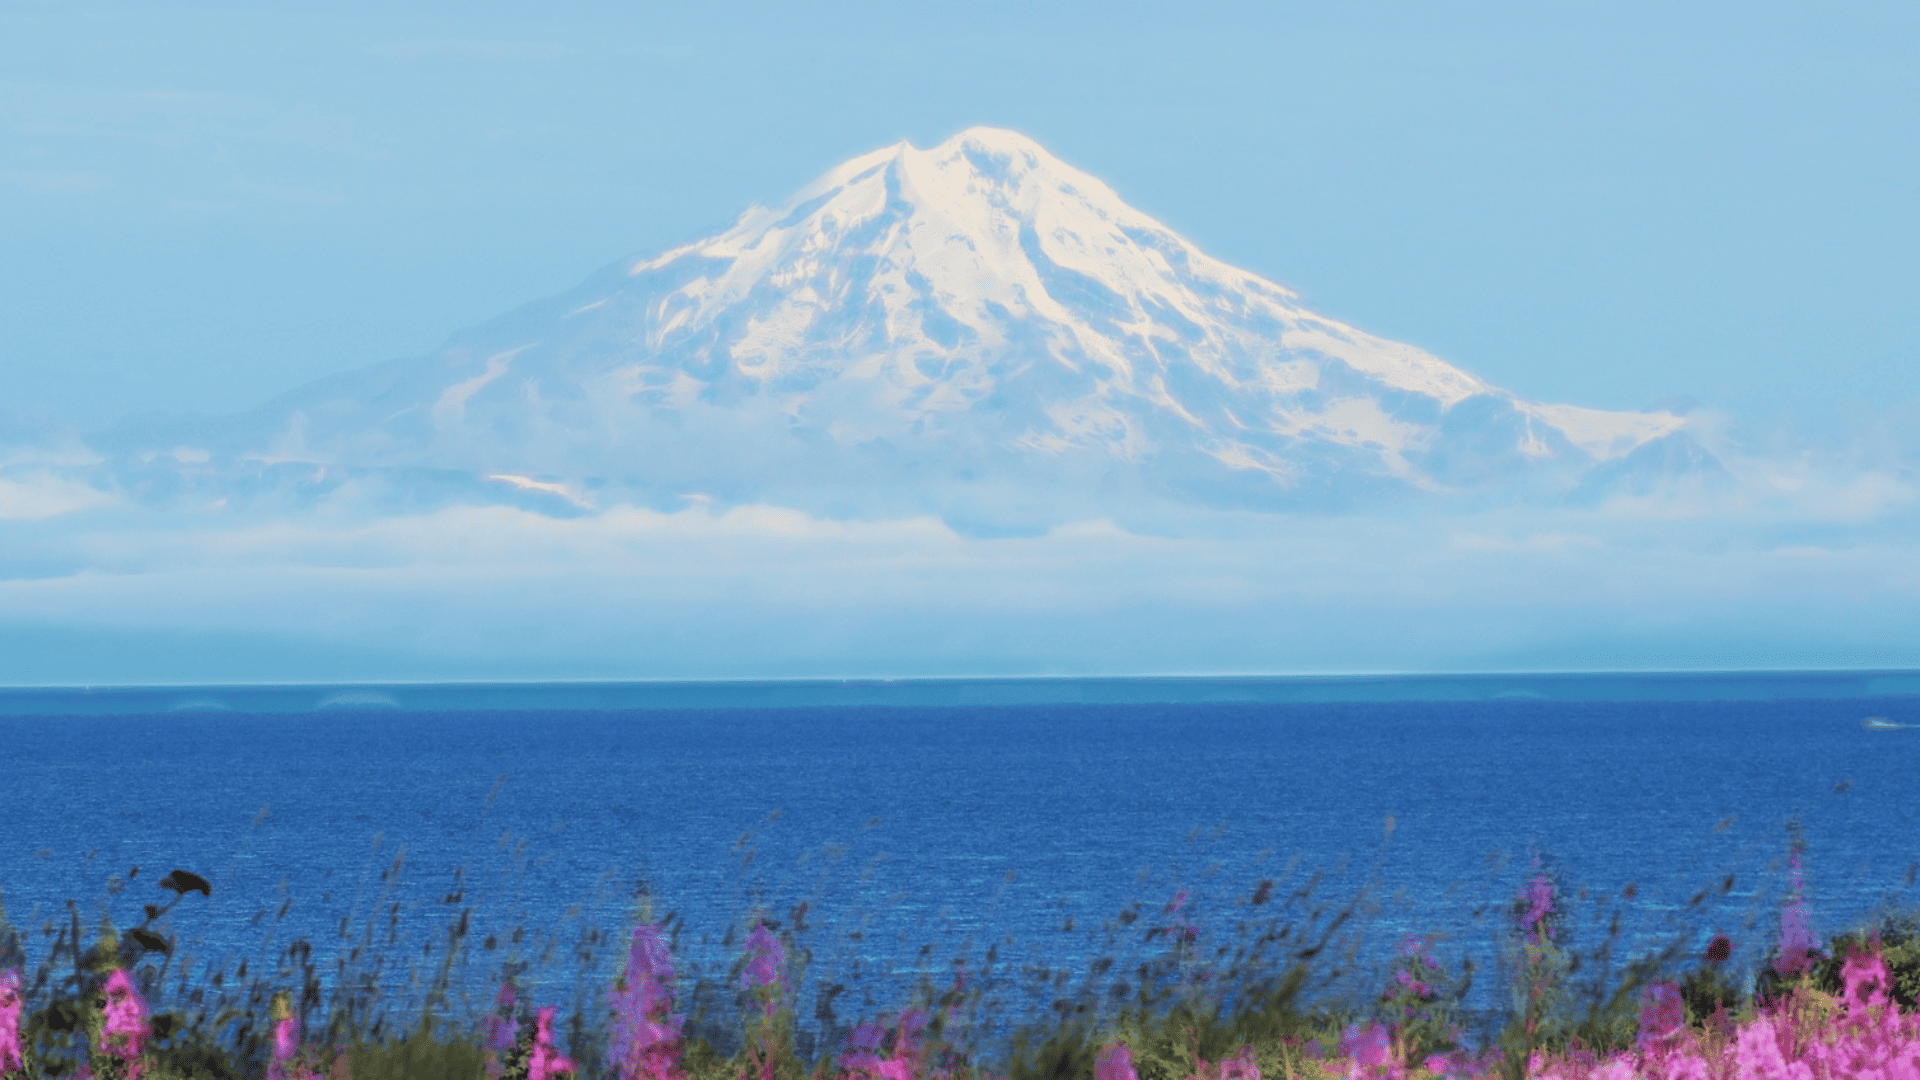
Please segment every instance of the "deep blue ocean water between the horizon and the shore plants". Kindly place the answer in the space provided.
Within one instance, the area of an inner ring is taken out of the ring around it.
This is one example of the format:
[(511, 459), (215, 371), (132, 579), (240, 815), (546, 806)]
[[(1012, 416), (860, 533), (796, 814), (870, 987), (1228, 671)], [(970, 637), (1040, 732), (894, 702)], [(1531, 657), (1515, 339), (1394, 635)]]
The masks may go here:
[(1724, 932), (1757, 967), (1793, 836), (1816, 934), (1920, 903), (1920, 730), (1887, 724), (1920, 724), (1920, 675), (0, 690), (0, 896), (38, 963), (69, 899), (127, 928), (188, 869), (213, 894), (167, 915), (175, 972), (305, 940), (334, 980), (357, 944), (403, 1019), (461, 913), (472, 1017), (505, 965), (564, 1013), (641, 917), (726, 980), (758, 911), (810, 951), (820, 1028), (956, 970), (1044, 1015), (1094, 959), (1165, 953), (1177, 892), (1198, 965), (1317, 880), (1300, 922), (1363, 894), (1331, 990), (1436, 934), (1496, 1009), (1536, 867), (1572, 947), (1620, 915), (1617, 961)]

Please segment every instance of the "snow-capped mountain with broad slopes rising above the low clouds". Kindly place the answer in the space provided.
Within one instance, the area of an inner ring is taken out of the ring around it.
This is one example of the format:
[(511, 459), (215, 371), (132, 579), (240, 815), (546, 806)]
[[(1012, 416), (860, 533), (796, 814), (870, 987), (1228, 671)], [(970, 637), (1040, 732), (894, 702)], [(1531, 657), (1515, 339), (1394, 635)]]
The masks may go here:
[(979, 127), (854, 158), (432, 356), (96, 444), (150, 484), (252, 471), (321, 494), (378, 475), (553, 505), (1044, 517), (1142, 496), (1551, 496), (1657, 440), (1692, 448), (1684, 427), (1524, 402), (1319, 317)]

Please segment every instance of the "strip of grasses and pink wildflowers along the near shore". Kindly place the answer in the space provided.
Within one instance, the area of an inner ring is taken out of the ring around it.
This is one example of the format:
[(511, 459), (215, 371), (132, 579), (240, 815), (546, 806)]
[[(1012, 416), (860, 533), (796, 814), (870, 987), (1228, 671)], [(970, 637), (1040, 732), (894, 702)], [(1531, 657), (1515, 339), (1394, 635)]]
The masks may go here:
[[(1131, 905), (1100, 928), (1110, 949), (1083, 970), (1020, 970), (989, 947), (985, 963), (958, 959), (950, 976), (883, 1007), (860, 1011), (845, 984), (816, 986), (810, 1017), (801, 990), (824, 942), (804, 903), (749, 913), (728, 936), (732, 965), (710, 972), (680, 955), (672, 915), (641, 911), (618, 940), (591, 934), (570, 957), (536, 957), (522, 930), (476, 942), (463, 909), (419, 951), (419, 1007), (396, 1015), (380, 974), (397, 961), (382, 955), (394, 938), (382, 942), (372, 919), (357, 934), (342, 922), (330, 978), (305, 940), (194, 972), (167, 915), (205, 903), (213, 884), (175, 869), (136, 926), (102, 917), (88, 940), (69, 901), (65, 919), (38, 928), (38, 957), (0, 922), (0, 1078), (1920, 1080), (1920, 913), (1818, 942), (1801, 857), (1795, 834), (1778, 924), (1755, 930), (1768, 938), (1757, 970), (1734, 970), (1724, 934), (1617, 957), (1619, 911), (1576, 951), (1578, 894), (1536, 859), (1498, 911), (1507, 1009), (1494, 1017), (1465, 1009), (1471, 959), (1450, 970), (1430, 936), (1404, 936), (1363, 969), (1340, 936), (1365, 919), (1363, 896), (1325, 901), (1319, 876), (1254, 882), (1221, 926), (1196, 920), (1185, 890)], [(117, 884), (144, 886), (138, 869)], [(1622, 903), (1632, 899), (1628, 890)], [(536, 961), (576, 963), (570, 1001), (543, 999), (559, 982), (538, 978)], [(457, 970), (497, 986), (492, 1005), (472, 1007)], [(1363, 992), (1331, 990), (1356, 976), (1371, 978)], [(1048, 1005), (1016, 1024), (1008, 988), (1021, 980), (1027, 1001)]]

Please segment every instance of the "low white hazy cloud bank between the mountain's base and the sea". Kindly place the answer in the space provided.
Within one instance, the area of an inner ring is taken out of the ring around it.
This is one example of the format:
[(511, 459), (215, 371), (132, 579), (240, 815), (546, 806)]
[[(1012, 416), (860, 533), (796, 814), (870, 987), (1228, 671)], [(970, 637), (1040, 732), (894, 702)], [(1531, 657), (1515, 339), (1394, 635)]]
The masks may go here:
[[(36, 467), (38, 469), (38, 467)], [(0, 486), (10, 684), (1920, 667), (1897, 471), (1448, 515), (150, 511)]]

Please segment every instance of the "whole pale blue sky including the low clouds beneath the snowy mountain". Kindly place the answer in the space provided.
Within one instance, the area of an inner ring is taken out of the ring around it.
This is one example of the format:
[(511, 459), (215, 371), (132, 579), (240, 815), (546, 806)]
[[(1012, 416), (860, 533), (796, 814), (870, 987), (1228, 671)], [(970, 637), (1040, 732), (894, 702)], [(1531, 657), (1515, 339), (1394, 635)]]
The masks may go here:
[(0, 0), (0, 452), (422, 356), (995, 125), (1523, 398), (1697, 400), (1745, 486), (981, 540), (163, 519), (0, 454), (0, 682), (1920, 667), (1912, 4), (394, 8)]

